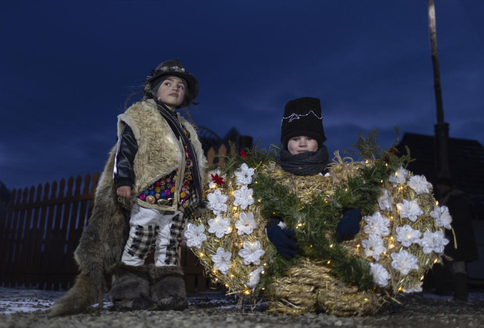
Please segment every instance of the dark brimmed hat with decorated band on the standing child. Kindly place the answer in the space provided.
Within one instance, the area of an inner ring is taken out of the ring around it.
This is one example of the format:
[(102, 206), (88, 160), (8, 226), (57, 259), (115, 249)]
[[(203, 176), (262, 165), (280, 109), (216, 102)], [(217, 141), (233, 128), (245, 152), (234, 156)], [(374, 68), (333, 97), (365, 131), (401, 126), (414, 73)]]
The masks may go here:
[(198, 81), (183, 68), (178, 59), (170, 59), (159, 64), (148, 76), (143, 86), (143, 93), (147, 98), (156, 97), (161, 82), (168, 76), (178, 76), (186, 84), (185, 99), (180, 107), (189, 105), (198, 95)]

